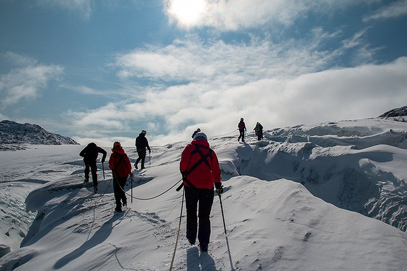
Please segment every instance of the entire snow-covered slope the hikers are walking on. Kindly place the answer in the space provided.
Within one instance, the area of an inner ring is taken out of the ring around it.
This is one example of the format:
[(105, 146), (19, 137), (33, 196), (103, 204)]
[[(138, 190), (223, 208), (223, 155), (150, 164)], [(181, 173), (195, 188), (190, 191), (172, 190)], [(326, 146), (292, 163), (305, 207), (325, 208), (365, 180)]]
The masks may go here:
[[(279, 128), (245, 144), (210, 137), (227, 234), (215, 197), (209, 253), (200, 253), (185, 239), (183, 210), (173, 270), (405, 270), (406, 131), (405, 122), (377, 118)], [(25, 191), (36, 212), (0, 270), (169, 270), (183, 203), (171, 186), (186, 144), (152, 148), (132, 191), (127, 183), (122, 213), (114, 212), (109, 171), (105, 180), (98, 171), (100, 194), (84, 187), (84, 146), (0, 152), (0, 184), (13, 183), (6, 197)], [(0, 195), (10, 212), (14, 203)]]

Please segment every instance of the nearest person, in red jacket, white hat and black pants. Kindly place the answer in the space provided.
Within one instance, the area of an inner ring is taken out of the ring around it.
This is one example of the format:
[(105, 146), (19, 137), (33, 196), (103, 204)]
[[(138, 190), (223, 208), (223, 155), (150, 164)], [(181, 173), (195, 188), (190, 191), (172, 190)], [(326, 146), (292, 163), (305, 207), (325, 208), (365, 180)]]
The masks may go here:
[(218, 195), (223, 192), (223, 188), (219, 161), (210, 148), (205, 133), (196, 133), (194, 140), (183, 150), (180, 171), (185, 189), (187, 239), (193, 245), (197, 237), (201, 251), (207, 251), (210, 242), (210, 212), (214, 200), (214, 186)]

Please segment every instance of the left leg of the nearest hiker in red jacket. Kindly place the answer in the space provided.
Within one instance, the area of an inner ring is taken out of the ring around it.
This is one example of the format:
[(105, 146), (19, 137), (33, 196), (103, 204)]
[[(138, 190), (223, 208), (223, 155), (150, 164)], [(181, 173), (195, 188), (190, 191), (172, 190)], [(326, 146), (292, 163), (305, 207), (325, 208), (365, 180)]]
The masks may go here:
[(185, 206), (187, 209), (187, 239), (191, 245), (197, 238), (197, 193), (195, 188), (185, 187)]

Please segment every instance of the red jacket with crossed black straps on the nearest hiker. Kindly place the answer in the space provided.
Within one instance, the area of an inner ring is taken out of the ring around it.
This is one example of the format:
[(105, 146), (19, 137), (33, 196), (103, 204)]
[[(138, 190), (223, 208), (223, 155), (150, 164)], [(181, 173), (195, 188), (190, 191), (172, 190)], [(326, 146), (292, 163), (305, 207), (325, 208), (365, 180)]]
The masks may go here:
[[(185, 147), (181, 155), (180, 171), (183, 173), (188, 172), (191, 167), (194, 167), (194, 165), (201, 160), (202, 156), (197, 151), (197, 148), (202, 152), (202, 155), (206, 156), (209, 152), (211, 152), (211, 155), (207, 155), (207, 163), (200, 162), (193, 171), (190, 171), (186, 179), (188, 179), (195, 188), (212, 189), (214, 183), (220, 183), (222, 178), (220, 176), (219, 161), (214, 151), (210, 149), (207, 140), (195, 139)], [(210, 165), (210, 167), (208, 167), (208, 165)], [(184, 186), (190, 187), (185, 181)]]

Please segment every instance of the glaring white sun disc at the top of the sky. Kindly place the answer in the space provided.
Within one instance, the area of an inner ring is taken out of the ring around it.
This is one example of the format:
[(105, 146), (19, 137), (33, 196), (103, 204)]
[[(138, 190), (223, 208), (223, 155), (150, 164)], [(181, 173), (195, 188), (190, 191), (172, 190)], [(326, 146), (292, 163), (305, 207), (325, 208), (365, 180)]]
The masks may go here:
[(169, 13), (181, 25), (189, 26), (197, 23), (205, 11), (205, 7), (205, 0), (172, 0)]

